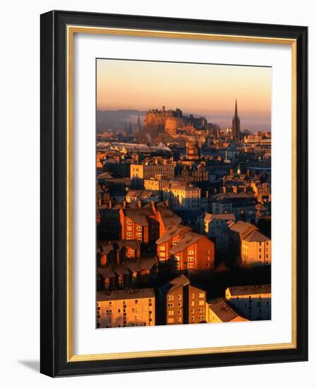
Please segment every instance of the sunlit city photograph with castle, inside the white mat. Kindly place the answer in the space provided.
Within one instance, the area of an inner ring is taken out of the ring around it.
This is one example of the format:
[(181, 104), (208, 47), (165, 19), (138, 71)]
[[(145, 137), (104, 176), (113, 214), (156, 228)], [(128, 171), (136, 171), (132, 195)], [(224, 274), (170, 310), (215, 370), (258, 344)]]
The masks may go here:
[(272, 67), (95, 70), (96, 328), (272, 320)]

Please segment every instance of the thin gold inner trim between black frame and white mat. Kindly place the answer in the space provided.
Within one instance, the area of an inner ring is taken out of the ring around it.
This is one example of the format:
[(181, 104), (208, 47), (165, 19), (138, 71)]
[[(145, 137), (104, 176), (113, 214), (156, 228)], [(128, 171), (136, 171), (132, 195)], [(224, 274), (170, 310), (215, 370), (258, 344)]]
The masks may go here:
[[(292, 142), (292, 340), (284, 344), (262, 344), (248, 346), (221, 346), (213, 348), (187, 348), (162, 351), (138, 351), (126, 353), (102, 353), (75, 355), (73, 353), (73, 37), (75, 33), (127, 35), (138, 37), (164, 37), (171, 39), (212, 40), (220, 42), (243, 42), (262, 44), (291, 45), (291, 142)], [(68, 25), (67, 39), (67, 362), (92, 360), (117, 360), (126, 358), (146, 358), (163, 356), (183, 356), (196, 354), (234, 353), (241, 351), (269, 351), (297, 347), (297, 306), (296, 306), (296, 40), (273, 37), (248, 37), (242, 35), (217, 35), (191, 32), (171, 32), (156, 30), (137, 30), (125, 28), (99, 28)]]

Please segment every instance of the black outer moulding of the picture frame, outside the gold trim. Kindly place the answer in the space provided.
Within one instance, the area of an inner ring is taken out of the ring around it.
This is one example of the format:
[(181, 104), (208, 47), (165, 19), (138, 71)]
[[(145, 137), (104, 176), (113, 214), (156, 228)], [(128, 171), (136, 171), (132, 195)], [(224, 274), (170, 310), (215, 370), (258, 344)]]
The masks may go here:
[[(297, 346), (291, 349), (67, 361), (66, 27), (85, 25), (276, 37), (297, 42)], [(51, 377), (175, 370), (308, 359), (308, 28), (70, 11), (41, 16), (41, 360)]]

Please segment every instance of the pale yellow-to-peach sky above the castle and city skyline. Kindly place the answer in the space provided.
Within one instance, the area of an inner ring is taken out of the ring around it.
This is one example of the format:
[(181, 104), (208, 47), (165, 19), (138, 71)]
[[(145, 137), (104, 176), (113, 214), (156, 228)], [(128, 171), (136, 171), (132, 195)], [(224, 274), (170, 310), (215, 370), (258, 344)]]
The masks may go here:
[(179, 108), (241, 129), (271, 130), (272, 71), (267, 67), (97, 59), (97, 109)]

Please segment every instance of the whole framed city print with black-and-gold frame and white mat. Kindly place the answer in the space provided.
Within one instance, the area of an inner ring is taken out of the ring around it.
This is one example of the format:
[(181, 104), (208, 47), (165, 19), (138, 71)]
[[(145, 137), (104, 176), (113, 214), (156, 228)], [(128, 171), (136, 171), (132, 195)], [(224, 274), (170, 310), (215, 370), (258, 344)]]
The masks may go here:
[(305, 27), (41, 16), (41, 372), (307, 360)]

